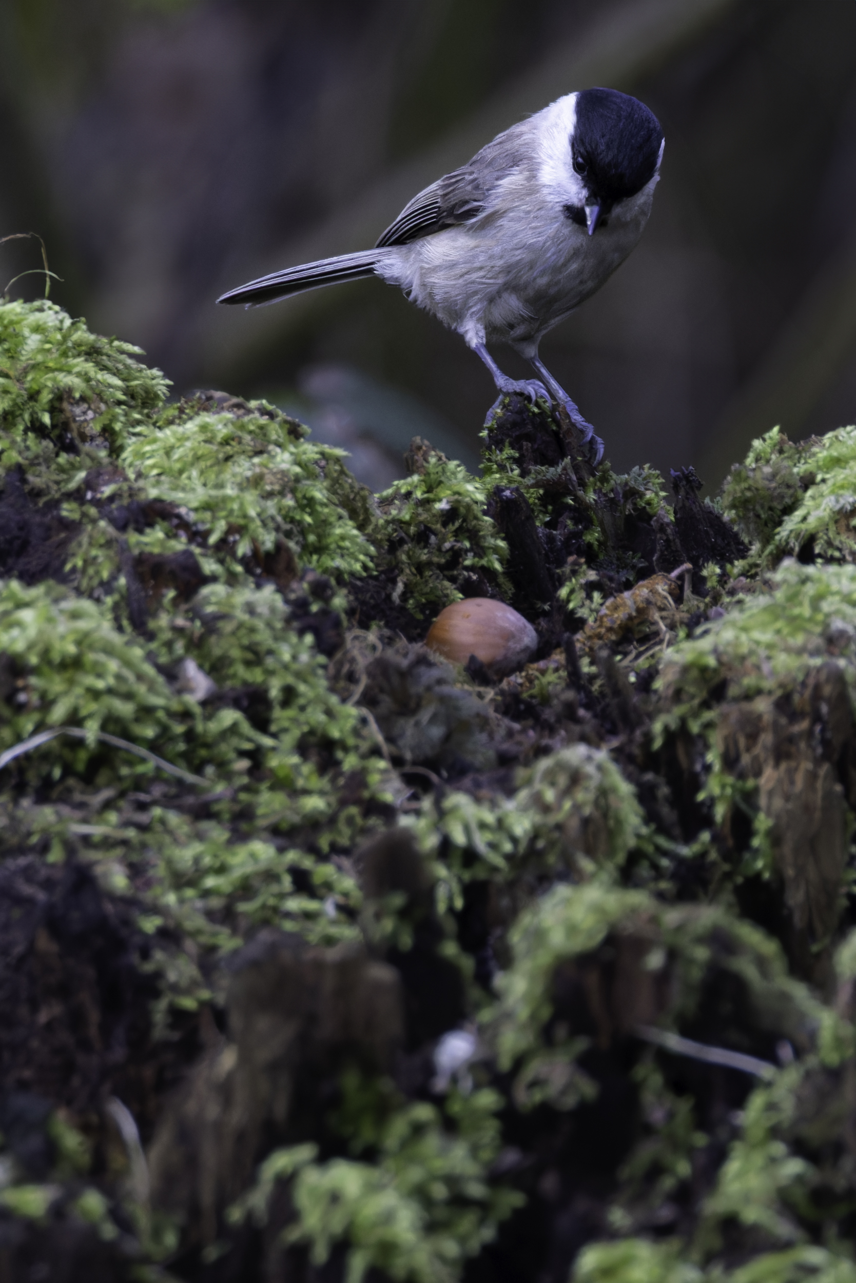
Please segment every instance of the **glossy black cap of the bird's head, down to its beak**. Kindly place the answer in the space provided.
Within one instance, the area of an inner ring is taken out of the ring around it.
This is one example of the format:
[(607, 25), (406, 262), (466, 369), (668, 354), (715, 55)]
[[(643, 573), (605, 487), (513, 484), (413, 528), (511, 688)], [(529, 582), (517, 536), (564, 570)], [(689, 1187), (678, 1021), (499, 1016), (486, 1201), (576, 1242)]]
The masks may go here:
[(663, 133), (644, 103), (615, 89), (584, 89), (576, 96), (571, 164), (585, 183), (592, 236), (620, 200), (653, 178)]

